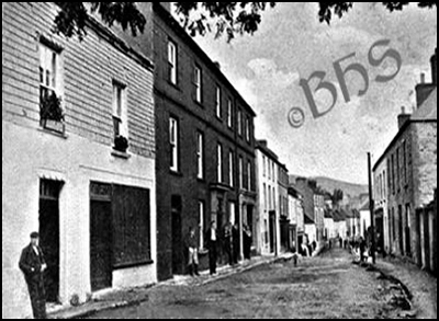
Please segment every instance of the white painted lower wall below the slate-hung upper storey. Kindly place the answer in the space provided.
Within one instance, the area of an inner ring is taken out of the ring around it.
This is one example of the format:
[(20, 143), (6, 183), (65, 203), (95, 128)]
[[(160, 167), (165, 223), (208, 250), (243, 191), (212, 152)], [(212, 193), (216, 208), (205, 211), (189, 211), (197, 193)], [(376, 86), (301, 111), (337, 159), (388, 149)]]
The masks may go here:
[[(67, 139), (32, 126), (2, 121), (2, 294), (3, 318), (31, 314), (27, 288), (19, 270), (31, 231), (38, 230), (41, 177), (63, 180), (59, 197), (60, 298), (90, 293), (90, 181), (150, 191), (150, 247), (156, 262), (155, 160), (111, 156), (112, 147), (76, 135)], [(113, 273), (114, 287), (154, 284), (156, 264)]]

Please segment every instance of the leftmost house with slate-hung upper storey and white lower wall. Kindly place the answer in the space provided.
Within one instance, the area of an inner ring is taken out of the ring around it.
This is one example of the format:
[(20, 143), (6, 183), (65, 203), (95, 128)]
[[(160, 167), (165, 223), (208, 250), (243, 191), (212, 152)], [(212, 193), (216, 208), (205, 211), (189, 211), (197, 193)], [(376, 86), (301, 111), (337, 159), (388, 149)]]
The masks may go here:
[(3, 318), (31, 314), (32, 231), (49, 302), (157, 280), (153, 65), (93, 19), (54, 35), (57, 12), (2, 3)]

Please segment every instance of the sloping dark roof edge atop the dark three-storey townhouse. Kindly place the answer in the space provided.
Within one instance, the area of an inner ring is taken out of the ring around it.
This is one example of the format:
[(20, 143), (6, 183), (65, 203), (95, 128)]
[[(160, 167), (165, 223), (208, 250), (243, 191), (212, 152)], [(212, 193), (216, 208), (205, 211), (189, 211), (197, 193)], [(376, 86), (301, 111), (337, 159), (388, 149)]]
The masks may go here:
[(207, 56), (207, 54), (195, 43), (195, 41), (184, 31), (184, 28), (178, 23), (178, 21), (172, 16), (172, 14), (166, 10), (160, 2), (153, 2), (153, 10), (158, 13), (158, 15), (168, 24), (168, 26), (172, 27), (172, 30), (180, 34), (185, 41), (185, 44), (191, 46), (193, 50), (196, 51), (199, 57), (204, 59), (204, 62), (210, 67), (210, 69), (219, 77), (222, 81), (224, 81), (234, 94), (240, 100), (243, 105), (247, 108), (248, 112), (251, 113), (254, 117), (258, 115), (254, 111), (254, 108), (247, 103), (247, 101), (243, 98), (243, 95), (236, 90), (235, 85), (230, 83), (227, 77), (218, 69), (214, 61)]

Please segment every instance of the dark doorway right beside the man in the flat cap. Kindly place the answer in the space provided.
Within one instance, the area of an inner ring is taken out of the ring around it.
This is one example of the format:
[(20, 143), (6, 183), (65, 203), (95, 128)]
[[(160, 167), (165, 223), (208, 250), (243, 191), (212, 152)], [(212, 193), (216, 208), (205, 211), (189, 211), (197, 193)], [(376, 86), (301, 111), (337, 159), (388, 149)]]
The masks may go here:
[(59, 192), (61, 182), (40, 182), (40, 245), (45, 255), (46, 300), (59, 301)]

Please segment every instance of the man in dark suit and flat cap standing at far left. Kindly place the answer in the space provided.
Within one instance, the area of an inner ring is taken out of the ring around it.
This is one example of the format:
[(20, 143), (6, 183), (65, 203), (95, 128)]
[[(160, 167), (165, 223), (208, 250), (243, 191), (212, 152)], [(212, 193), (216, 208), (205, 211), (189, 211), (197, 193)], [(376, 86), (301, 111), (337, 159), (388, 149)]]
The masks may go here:
[(47, 265), (43, 251), (38, 247), (38, 238), (37, 232), (31, 234), (31, 244), (23, 249), (20, 257), (20, 270), (24, 273), (27, 284), (34, 318), (47, 319), (43, 278), (43, 272)]

